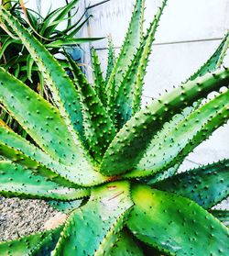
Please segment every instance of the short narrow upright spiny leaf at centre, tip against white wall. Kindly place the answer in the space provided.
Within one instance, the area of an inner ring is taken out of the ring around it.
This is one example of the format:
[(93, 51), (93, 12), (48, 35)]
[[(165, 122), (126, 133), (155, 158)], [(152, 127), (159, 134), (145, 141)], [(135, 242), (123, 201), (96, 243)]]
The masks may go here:
[(104, 106), (106, 106), (106, 94), (105, 94), (105, 82), (103, 77), (103, 72), (101, 71), (101, 64), (96, 51), (93, 49), (93, 86), (96, 95), (100, 98)]

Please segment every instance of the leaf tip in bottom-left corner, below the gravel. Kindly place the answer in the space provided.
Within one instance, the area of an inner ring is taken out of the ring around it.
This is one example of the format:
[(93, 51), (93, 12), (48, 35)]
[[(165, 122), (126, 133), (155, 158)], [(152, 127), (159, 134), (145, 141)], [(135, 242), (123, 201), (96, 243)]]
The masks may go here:
[(63, 227), (30, 235), (16, 240), (9, 240), (6, 242), (0, 242), (0, 255), (1, 256), (50, 256), (51, 250), (55, 248), (55, 245), (60, 237), (60, 232)]

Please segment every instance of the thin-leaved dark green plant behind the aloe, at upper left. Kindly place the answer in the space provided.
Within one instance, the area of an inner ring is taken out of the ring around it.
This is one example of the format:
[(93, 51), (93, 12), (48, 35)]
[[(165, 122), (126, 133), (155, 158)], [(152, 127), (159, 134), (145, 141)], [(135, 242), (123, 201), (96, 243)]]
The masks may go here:
[[(8, 9), (12, 16), (17, 18), (20, 24), (27, 28), (30, 34), (49, 49), (49, 52), (58, 59), (63, 68), (68, 69), (68, 62), (64, 60), (65, 52), (63, 49), (68, 47), (67, 49), (75, 57), (75, 52), (77, 50), (78, 53), (80, 52), (80, 43), (96, 40), (76, 37), (90, 18), (86, 18), (83, 14), (78, 21), (72, 22), (79, 12), (79, 8), (76, 8), (78, 2), (79, 0), (73, 0), (67, 6), (60, 7), (52, 12), (49, 11), (46, 17), (41, 17), (38, 12), (27, 9), (23, 1), (5, 1), (3, 6)], [(63, 22), (66, 23), (66, 28), (58, 28)], [(27, 48), (16, 36), (14, 29), (7, 26), (7, 23), (1, 26), (0, 44), (1, 66), (53, 104), (49, 88), (45, 86), (36, 61), (33, 60)], [(81, 57), (78, 58), (78, 60), (77, 58), (74, 60), (81, 62)], [(24, 137), (27, 136), (25, 130), (3, 108), (1, 109), (1, 118), (17, 133)]]

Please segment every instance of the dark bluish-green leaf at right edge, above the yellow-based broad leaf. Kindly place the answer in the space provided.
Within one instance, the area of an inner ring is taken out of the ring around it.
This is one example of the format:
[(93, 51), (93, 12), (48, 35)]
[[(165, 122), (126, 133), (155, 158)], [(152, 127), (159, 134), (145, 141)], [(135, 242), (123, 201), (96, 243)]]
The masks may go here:
[(179, 173), (153, 186), (188, 197), (209, 209), (229, 195), (229, 160)]

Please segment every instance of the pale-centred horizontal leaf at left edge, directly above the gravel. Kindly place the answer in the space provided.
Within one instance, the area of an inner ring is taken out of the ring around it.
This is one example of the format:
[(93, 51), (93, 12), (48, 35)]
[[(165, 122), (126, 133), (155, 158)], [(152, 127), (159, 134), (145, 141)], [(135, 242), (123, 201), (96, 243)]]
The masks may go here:
[(0, 161), (0, 195), (66, 201), (88, 196), (90, 190), (64, 187), (19, 164)]

